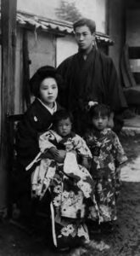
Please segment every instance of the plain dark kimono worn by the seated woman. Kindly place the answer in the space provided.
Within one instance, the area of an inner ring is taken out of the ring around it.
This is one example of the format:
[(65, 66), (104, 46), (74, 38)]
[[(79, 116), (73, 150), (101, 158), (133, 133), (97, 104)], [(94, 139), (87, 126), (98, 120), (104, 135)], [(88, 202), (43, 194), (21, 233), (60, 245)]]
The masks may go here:
[[(60, 109), (62, 108), (56, 102), (56, 111)], [(25, 172), (25, 166), (31, 163), (40, 150), (38, 135), (47, 131), (52, 123), (53, 114), (36, 98), (17, 127), (15, 141), (17, 166), (13, 173), (14, 202), (20, 204), (20, 211), (25, 216), (30, 217), (32, 211), (31, 172), (35, 169), (33, 166), (29, 172)]]

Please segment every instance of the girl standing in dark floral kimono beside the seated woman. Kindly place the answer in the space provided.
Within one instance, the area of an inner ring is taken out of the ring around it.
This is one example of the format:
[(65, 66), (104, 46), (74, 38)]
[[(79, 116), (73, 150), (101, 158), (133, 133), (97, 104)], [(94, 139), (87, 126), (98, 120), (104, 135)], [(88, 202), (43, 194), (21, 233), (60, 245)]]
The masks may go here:
[[(117, 218), (116, 199), (120, 192), (120, 167), (126, 154), (114, 131), (108, 128), (110, 111), (104, 104), (89, 110), (90, 127), (85, 140), (92, 152), (91, 175), (95, 182), (95, 199), (98, 203), (101, 230), (113, 230)], [(91, 216), (94, 214), (91, 210)]]

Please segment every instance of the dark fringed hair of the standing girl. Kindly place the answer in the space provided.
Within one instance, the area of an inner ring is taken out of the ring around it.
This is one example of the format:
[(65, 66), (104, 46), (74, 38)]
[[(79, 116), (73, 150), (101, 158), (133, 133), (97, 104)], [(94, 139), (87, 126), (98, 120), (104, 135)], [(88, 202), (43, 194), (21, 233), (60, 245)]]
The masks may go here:
[(110, 116), (110, 108), (104, 104), (96, 104), (89, 110), (89, 118), (96, 118), (98, 116)]

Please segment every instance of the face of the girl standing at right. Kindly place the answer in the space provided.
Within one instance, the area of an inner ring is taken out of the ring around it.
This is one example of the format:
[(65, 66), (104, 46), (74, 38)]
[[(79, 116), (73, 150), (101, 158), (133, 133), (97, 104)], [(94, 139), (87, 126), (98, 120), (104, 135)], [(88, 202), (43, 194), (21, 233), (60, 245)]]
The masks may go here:
[(103, 131), (109, 124), (109, 117), (107, 115), (92, 118), (92, 125), (98, 130)]

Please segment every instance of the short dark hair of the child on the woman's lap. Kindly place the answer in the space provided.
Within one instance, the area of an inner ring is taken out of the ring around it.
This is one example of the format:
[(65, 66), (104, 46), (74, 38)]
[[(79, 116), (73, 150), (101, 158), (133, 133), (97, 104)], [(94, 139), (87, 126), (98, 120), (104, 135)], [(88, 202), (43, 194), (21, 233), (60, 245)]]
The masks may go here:
[(59, 124), (59, 121), (70, 119), (71, 123), (73, 123), (72, 113), (65, 109), (61, 109), (53, 114), (53, 127), (56, 128)]

